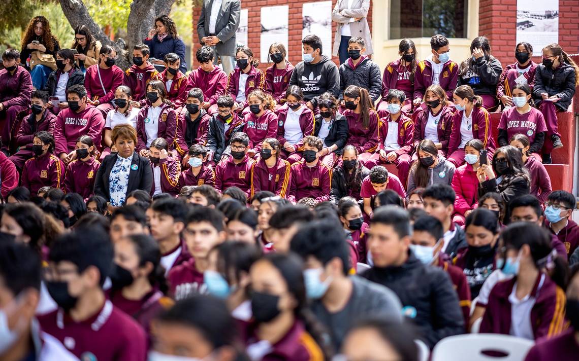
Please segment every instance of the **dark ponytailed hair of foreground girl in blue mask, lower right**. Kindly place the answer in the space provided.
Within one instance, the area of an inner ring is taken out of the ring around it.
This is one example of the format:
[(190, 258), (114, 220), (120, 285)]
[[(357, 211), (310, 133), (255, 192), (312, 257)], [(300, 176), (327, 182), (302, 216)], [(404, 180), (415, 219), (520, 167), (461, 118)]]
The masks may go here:
[(563, 260), (552, 248), (551, 236), (544, 228), (529, 222), (515, 222), (501, 232), (505, 250), (521, 250), (529, 245), (534, 264), (539, 271), (546, 269), (560, 288), (565, 291), (569, 278), (567, 260)]

